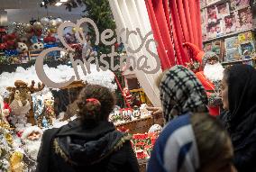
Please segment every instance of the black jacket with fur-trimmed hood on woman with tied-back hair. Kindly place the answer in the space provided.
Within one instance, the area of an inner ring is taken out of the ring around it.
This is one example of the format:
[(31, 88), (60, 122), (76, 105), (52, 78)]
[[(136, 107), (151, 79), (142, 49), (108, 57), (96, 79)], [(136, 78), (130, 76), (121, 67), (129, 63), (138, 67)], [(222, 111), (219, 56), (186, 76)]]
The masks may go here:
[(111, 122), (93, 128), (69, 122), (44, 132), (37, 172), (139, 172), (129, 139)]

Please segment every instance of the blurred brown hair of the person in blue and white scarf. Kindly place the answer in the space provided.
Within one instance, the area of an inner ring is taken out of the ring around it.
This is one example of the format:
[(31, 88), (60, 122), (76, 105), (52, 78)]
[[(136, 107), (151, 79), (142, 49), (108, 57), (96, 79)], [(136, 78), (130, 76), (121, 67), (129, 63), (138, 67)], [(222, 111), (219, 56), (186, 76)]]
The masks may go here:
[(197, 140), (200, 167), (205, 167), (229, 151), (230, 137), (221, 122), (207, 113), (191, 115), (191, 124)]

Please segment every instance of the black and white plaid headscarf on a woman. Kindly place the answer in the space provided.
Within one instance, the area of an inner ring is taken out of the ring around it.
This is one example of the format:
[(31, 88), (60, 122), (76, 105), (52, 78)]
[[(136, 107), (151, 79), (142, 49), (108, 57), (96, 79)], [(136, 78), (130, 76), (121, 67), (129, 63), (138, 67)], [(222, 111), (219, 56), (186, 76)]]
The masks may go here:
[(192, 71), (182, 66), (170, 68), (160, 83), (160, 101), (165, 121), (187, 112), (206, 112), (204, 87)]

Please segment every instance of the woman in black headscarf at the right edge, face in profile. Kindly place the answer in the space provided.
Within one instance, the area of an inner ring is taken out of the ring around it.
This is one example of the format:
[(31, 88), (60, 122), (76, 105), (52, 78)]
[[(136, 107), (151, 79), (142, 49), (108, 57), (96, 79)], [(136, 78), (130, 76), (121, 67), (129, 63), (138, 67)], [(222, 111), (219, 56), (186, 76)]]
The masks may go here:
[(239, 171), (256, 171), (256, 70), (233, 65), (224, 70), (222, 116), (231, 135), (234, 162)]

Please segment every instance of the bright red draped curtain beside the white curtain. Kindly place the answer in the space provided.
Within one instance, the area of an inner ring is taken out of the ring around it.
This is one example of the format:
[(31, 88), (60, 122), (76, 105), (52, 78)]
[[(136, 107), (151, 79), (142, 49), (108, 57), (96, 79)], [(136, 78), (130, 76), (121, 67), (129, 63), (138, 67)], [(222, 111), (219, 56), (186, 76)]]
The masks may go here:
[(190, 62), (184, 42), (202, 49), (199, 0), (145, 0), (162, 69)]

